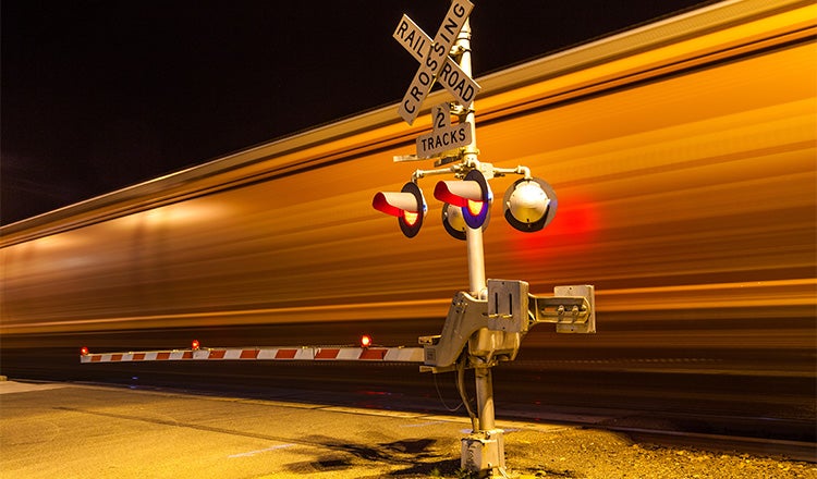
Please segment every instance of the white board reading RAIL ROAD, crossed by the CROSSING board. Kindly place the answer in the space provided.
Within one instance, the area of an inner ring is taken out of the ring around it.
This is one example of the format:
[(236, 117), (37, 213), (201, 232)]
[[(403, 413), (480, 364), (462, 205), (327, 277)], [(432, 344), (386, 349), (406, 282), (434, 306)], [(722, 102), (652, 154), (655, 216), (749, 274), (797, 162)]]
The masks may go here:
[[(400, 19), (392, 37), (420, 63), (425, 61), (426, 54), (430, 51), (431, 37), (426, 35), (408, 15), (403, 15)], [(435, 79), (446, 87), (460, 105), (468, 107), (481, 87), (471, 76), (466, 75), (451, 57), (446, 56), (444, 62), (442, 70)]]

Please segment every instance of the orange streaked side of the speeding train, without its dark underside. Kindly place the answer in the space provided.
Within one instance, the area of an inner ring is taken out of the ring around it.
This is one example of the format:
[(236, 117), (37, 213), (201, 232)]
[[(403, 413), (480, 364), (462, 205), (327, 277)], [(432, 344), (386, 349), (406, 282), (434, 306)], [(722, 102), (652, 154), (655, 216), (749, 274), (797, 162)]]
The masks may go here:
[[(815, 11), (487, 93), (480, 159), (528, 165), (559, 195), (534, 235), (493, 205), (488, 275), (542, 293), (595, 284), (599, 315), (813, 316), (817, 50), (803, 32)], [(411, 241), (369, 205), (416, 168), (391, 162), (416, 128), (350, 122), (7, 230), (0, 331), (444, 317), (467, 273), (441, 205)]]

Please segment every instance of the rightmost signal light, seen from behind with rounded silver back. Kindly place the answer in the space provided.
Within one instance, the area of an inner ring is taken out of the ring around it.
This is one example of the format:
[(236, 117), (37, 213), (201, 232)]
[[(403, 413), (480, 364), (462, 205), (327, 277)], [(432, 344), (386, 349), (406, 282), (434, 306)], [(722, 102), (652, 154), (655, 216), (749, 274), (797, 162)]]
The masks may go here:
[(517, 180), (502, 198), (505, 220), (525, 233), (547, 226), (556, 217), (557, 206), (553, 187), (538, 177)]

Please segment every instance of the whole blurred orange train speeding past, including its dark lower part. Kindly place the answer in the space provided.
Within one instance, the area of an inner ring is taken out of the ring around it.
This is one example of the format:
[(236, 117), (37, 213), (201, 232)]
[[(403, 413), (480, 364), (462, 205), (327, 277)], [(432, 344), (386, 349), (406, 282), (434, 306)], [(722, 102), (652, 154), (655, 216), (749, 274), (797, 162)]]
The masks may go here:
[[(559, 196), (536, 234), (493, 205), (488, 277), (597, 292), (598, 334), (535, 330), (515, 367), (568, 369), (590, 397), (708, 374), (736, 381), (724, 402), (813, 420), (816, 35), (812, 1), (725, 1), (477, 78), (479, 159), (527, 165)], [(80, 374), (82, 345), (184, 347), (187, 331), (219, 346), (438, 333), (467, 290), (464, 243), (435, 200), (412, 240), (370, 206), (430, 168), (392, 162), (428, 116), (408, 127), (390, 106), (3, 226), (2, 372), (48, 377), (32, 357), (51, 347), (70, 365), (45, 371)], [(600, 386), (582, 371), (643, 374)], [(703, 383), (691, 402), (722, 393)]]

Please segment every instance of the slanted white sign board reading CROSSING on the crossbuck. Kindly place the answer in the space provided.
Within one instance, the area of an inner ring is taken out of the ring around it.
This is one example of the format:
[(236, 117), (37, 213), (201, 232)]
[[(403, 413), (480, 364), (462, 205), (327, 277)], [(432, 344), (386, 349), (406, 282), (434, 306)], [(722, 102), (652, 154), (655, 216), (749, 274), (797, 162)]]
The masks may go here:
[[(419, 114), (423, 100), (426, 99), (426, 96), (431, 90), (431, 85), (437, 74), (444, 66), (448, 53), (456, 41), (456, 36), (460, 34), (463, 25), (465, 25), (465, 21), (468, 19), (472, 9), (474, 9), (474, 4), (468, 0), (454, 0), (451, 2), (451, 8), (446, 14), (446, 20), (442, 21), (437, 35), (434, 37), (434, 45), (425, 56), (425, 61), (420, 63), (398, 108), (400, 116), (410, 125), (414, 123), (414, 120)], [(462, 89), (463, 91), (465, 90), (464, 84)]]

